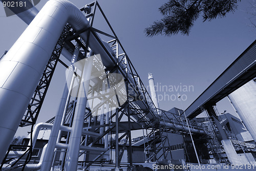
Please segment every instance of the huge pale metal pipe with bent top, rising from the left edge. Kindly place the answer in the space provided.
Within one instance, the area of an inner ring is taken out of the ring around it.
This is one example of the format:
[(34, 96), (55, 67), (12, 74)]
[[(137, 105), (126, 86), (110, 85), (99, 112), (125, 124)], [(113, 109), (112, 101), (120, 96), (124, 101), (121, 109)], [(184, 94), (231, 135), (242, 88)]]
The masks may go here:
[(5, 73), (0, 78), (0, 97), (4, 99), (0, 101), (0, 161), (67, 22), (76, 31), (89, 27), (87, 18), (72, 3), (48, 1), (0, 61), (0, 73)]

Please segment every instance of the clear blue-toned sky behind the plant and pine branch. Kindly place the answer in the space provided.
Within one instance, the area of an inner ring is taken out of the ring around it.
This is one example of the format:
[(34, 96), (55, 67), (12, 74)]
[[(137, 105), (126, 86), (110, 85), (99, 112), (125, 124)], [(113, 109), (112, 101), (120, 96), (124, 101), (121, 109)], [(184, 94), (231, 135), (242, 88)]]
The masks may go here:
[[(41, 0), (36, 8), (40, 10), (46, 2)], [(71, 2), (81, 8), (91, 1)], [(161, 19), (158, 8), (165, 2), (167, 1), (98, 1), (144, 85), (148, 85), (147, 74), (152, 73), (159, 88), (168, 87), (167, 91), (158, 90), (160, 108), (186, 109), (255, 40), (256, 30), (248, 26), (250, 15), (246, 13), (251, 0), (239, 2), (238, 9), (224, 18), (211, 22), (203, 22), (199, 18), (189, 36), (177, 34), (171, 37), (146, 37), (144, 29)], [(10, 49), (27, 25), (17, 16), (6, 17), (2, 6), (0, 22), (2, 54)], [(106, 30), (100, 16), (95, 18), (94, 24), (95, 28)], [(65, 60), (63, 56), (61, 59)], [(59, 64), (37, 123), (55, 116), (64, 83), (65, 67)], [(188, 87), (190, 89), (183, 89)], [(176, 91), (175, 88), (179, 90)], [(184, 99), (182, 104), (177, 100), (178, 93)], [(220, 113), (226, 110), (236, 115), (226, 98), (217, 104), (217, 109)], [(27, 128), (19, 129), (16, 135), (27, 135), (27, 131)]]

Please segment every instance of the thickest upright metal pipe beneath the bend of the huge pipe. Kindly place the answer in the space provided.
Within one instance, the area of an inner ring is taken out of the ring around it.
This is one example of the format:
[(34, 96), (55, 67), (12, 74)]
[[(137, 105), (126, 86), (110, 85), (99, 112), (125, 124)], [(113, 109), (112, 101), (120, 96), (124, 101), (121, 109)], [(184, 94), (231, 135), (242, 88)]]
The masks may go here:
[(68, 145), (68, 152), (66, 157), (65, 170), (73, 171), (77, 169), (77, 162), (79, 156), (79, 148), (82, 136), (82, 127), (84, 122), (84, 114), (86, 111), (87, 104), (87, 92), (89, 90), (91, 72), (93, 68), (94, 56), (86, 58), (87, 61), (84, 65), (81, 82), (79, 85), (79, 93), (76, 104), (76, 111), (74, 114), (74, 120), (70, 135), (70, 142)]

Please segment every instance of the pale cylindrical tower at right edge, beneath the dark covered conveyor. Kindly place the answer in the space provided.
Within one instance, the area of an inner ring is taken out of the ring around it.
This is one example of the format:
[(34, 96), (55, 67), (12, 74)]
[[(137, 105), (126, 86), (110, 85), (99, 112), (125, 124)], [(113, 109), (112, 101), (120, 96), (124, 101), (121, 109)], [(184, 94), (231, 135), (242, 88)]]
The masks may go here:
[(256, 83), (253, 80), (247, 82), (228, 98), (256, 142)]

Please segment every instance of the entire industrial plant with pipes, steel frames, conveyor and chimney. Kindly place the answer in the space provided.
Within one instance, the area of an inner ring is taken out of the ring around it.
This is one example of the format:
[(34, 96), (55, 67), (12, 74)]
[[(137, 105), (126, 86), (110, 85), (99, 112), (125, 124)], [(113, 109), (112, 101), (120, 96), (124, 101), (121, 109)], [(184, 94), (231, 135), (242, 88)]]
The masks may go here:
[[(10, 10), (28, 27), (0, 60), (0, 170), (256, 164), (256, 41), (186, 110), (164, 111), (153, 74), (141, 81), (97, 1)], [(112, 34), (93, 27), (96, 12)], [(35, 125), (57, 62), (67, 68), (58, 110)], [(227, 96), (239, 117), (218, 113), (216, 103)], [(29, 137), (10, 145), (18, 126), (30, 126)]]

